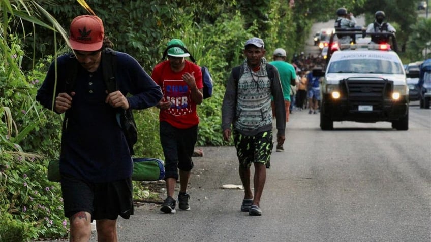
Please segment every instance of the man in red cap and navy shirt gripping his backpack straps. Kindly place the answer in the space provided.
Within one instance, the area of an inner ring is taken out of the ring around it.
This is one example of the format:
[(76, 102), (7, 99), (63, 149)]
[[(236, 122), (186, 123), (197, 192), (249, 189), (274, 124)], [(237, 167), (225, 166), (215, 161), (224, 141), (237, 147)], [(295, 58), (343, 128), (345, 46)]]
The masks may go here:
[[(70, 241), (89, 241), (93, 220), (99, 241), (117, 241), (118, 215), (128, 219), (133, 214), (133, 163), (116, 116), (120, 110), (155, 106), (162, 92), (133, 57), (116, 52), (117, 90), (108, 93), (101, 65), (105, 36), (99, 17), (73, 19), (69, 38), (74, 54), (60, 56), (57, 68), (51, 64), (36, 99), (57, 114), (66, 112), (60, 175)], [(76, 78), (69, 87), (66, 80), (73, 66)]]

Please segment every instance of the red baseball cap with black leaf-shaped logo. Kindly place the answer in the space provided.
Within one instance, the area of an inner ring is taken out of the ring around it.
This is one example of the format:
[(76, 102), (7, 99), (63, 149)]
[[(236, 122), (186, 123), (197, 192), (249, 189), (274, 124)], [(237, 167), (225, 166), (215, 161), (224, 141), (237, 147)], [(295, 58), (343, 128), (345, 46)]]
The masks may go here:
[(70, 24), (70, 46), (74, 50), (96, 51), (103, 45), (104, 29), (102, 20), (94, 15), (81, 15)]

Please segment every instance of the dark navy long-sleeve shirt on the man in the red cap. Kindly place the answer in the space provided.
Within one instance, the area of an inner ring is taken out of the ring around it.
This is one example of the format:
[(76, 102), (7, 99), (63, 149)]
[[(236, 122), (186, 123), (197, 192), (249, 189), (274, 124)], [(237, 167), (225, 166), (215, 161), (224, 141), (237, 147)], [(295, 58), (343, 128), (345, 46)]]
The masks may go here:
[[(103, 58), (103, 57), (102, 57)], [(130, 109), (155, 106), (162, 98), (160, 86), (126, 53), (116, 52), (115, 78), (120, 90), (127, 96)], [(58, 93), (65, 92), (65, 80), (70, 69), (77, 67), (72, 89), (72, 107), (68, 112), (66, 130), (63, 130), (60, 172), (91, 182), (110, 182), (132, 175), (133, 163), (126, 138), (116, 120), (116, 110), (105, 103), (106, 86), (102, 65), (90, 73), (70, 54), (57, 59)], [(51, 109), (55, 69), (52, 63), (38, 90), (36, 100)], [(54, 99), (55, 101), (55, 99)]]

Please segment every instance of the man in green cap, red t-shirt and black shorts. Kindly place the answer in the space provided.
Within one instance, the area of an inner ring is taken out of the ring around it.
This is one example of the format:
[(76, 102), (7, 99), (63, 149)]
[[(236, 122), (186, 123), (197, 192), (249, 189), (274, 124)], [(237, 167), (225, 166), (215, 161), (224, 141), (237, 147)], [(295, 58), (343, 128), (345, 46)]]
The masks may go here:
[(178, 208), (190, 210), (187, 185), (198, 135), (196, 105), (202, 103), (203, 83), (200, 67), (184, 59), (190, 54), (181, 40), (169, 41), (165, 53), (168, 60), (156, 65), (151, 77), (163, 91), (163, 99), (157, 107), (160, 109), (160, 142), (165, 155), (167, 198), (160, 210), (175, 213), (176, 201), (173, 197), (178, 177)]

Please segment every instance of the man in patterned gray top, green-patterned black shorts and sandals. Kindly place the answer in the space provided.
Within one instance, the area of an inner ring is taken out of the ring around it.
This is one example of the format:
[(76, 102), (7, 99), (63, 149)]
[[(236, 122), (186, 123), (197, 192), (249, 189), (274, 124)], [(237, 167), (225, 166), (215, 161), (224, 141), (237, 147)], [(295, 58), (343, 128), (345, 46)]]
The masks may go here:
[[(274, 98), (277, 140), (285, 140), (286, 110), (279, 72), (265, 59), (260, 38), (245, 42), (245, 60), (232, 69), (222, 105), (225, 141), (233, 141), (239, 160), (239, 177), (244, 186), (241, 211), (260, 216), (260, 198), (266, 180), (266, 163), (272, 153), (272, 110)], [(250, 187), (250, 167), (254, 164), (254, 196)]]

